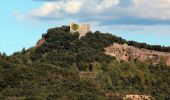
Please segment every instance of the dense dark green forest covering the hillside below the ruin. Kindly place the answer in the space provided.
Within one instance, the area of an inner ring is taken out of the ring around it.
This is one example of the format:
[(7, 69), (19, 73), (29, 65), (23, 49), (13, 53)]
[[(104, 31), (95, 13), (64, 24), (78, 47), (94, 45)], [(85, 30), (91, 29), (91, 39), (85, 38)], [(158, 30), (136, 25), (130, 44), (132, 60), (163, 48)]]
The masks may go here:
[[(89, 32), (79, 39), (69, 27), (49, 29), (39, 47), (0, 56), (0, 99), (9, 100), (113, 100), (105, 93), (151, 95), (170, 99), (170, 67), (164, 63), (119, 62), (104, 54), (113, 43), (170, 52), (170, 47), (126, 41)], [(92, 66), (92, 69), (89, 69)], [(95, 78), (80, 77), (91, 71)], [(114, 98), (120, 100), (120, 98)]]

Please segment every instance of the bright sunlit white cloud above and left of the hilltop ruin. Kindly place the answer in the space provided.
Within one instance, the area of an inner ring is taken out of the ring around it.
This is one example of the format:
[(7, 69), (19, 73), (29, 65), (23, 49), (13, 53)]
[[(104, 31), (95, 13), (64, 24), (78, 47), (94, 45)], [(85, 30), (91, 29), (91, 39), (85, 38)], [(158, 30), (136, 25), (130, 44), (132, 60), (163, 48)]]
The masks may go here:
[(45, 2), (40, 8), (32, 10), (25, 17), (49, 17), (60, 18), (65, 14), (79, 13), (83, 0), (63, 0), (55, 2)]

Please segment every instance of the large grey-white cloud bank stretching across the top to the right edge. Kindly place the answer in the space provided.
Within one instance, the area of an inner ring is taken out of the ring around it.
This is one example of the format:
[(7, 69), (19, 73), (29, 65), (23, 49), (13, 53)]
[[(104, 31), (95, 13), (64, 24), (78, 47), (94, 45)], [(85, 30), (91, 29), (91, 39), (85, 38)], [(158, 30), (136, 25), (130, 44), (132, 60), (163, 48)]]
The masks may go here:
[[(37, 0), (35, 0), (37, 1)], [(38, 20), (76, 20), (104, 25), (170, 24), (170, 0), (42, 0), (53, 1), (27, 14)]]

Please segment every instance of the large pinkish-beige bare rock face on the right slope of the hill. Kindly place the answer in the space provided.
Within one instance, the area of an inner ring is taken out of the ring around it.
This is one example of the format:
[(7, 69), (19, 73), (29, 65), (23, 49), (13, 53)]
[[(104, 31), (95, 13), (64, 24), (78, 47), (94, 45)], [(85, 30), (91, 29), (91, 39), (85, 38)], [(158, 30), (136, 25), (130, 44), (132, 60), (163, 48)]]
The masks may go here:
[(119, 61), (148, 60), (153, 64), (158, 64), (163, 61), (170, 66), (170, 53), (139, 49), (133, 46), (128, 46), (127, 44), (114, 43), (113, 45), (105, 48), (105, 54), (114, 56)]

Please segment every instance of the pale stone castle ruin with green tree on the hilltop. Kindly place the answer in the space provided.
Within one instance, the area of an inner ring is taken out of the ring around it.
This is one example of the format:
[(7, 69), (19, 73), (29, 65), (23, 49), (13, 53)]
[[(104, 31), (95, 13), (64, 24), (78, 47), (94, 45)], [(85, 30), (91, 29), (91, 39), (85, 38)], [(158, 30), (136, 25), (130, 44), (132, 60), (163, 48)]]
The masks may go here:
[(70, 32), (72, 33), (78, 32), (79, 38), (85, 36), (86, 33), (88, 33), (89, 31), (90, 31), (89, 24), (76, 24), (76, 23), (70, 24)]

